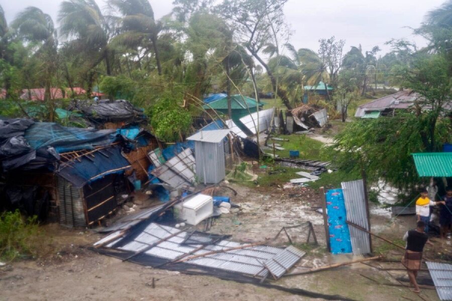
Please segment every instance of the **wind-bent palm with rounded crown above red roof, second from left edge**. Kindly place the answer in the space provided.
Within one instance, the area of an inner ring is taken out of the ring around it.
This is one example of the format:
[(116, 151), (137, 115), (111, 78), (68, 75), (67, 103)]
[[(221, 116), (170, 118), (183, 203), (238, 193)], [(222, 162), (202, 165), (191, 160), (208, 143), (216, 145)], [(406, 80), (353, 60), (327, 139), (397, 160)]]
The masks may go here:
[[(52, 18), (36, 7), (28, 7), (20, 12), (12, 23), (18, 37), (30, 43), (40, 43), (35, 53), (43, 61), (45, 94), (44, 100), (50, 100), (52, 78), (57, 70), (57, 34)], [(53, 120), (53, 110), (50, 113)]]

